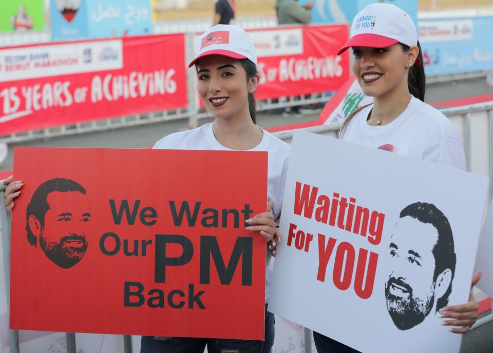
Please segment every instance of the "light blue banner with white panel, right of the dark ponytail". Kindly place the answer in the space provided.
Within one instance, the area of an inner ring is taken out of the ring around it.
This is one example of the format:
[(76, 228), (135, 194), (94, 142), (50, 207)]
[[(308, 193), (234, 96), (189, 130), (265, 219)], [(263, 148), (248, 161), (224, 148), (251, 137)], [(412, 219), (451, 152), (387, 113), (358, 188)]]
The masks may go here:
[(493, 17), (420, 21), (419, 40), (425, 73), (453, 74), (493, 70)]

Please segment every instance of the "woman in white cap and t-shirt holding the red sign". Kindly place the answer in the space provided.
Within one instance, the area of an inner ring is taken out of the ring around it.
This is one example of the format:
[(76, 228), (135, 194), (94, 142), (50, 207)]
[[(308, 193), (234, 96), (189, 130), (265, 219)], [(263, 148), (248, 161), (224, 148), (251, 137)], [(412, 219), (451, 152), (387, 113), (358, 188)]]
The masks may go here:
[[(268, 152), (267, 212), (247, 222), (247, 229), (260, 231), (275, 246), (276, 222), (280, 216), (290, 146), (256, 125), (253, 93), (258, 84), (257, 55), (247, 33), (240, 27), (217, 25), (202, 34), (195, 65), (197, 91), (205, 107), (214, 115), (213, 123), (177, 132), (158, 141), (156, 149), (249, 150)], [(254, 166), (250, 166), (254, 168)], [(271, 259), (268, 252), (267, 261)], [(268, 268), (268, 267), (267, 267)], [(266, 303), (270, 295), (271, 270), (266, 273)], [(267, 353), (274, 343), (274, 315), (267, 312), (265, 340), (142, 337), (141, 352)]]

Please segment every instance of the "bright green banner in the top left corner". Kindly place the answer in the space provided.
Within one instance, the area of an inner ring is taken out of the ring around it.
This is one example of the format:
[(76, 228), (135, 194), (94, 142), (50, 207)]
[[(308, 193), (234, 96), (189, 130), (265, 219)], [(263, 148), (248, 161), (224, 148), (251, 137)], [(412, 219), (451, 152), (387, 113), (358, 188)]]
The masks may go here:
[(0, 0), (0, 32), (45, 29), (42, 0)]

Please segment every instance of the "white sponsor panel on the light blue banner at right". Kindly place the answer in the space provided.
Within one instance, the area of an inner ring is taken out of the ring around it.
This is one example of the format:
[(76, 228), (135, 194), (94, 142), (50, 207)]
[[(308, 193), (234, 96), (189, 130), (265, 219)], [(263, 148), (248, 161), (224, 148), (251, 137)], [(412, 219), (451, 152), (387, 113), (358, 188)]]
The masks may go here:
[(473, 35), (473, 24), (470, 19), (458, 21), (420, 21), (419, 38), (421, 43), (469, 41)]

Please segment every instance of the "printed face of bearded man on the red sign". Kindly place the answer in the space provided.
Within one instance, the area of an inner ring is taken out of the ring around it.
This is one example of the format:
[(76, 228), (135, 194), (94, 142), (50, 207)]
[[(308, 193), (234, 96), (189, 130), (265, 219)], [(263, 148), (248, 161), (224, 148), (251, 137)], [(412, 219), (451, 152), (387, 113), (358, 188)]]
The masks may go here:
[(53, 191), (46, 201), (49, 209), (44, 225), (40, 227), (31, 216), (31, 229), (40, 229), (40, 246), (46, 256), (56, 265), (70, 268), (82, 260), (87, 250), (86, 228), (91, 217), (87, 197), (79, 191)]

